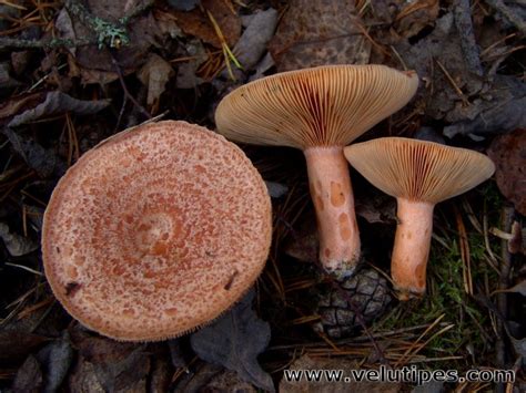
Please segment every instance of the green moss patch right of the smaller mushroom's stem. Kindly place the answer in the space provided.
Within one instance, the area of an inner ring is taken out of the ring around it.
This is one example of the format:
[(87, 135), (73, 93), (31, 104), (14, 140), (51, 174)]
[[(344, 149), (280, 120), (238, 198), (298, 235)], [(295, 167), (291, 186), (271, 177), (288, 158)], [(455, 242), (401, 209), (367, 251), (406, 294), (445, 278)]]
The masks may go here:
[[(502, 197), (495, 193), (495, 186), (486, 186), (481, 189), (488, 210), (489, 227), (498, 225), (498, 204)], [(483, 208), (476, 211), (483, 211)], [(481, 215), (482, 216), (482, 215)], [(421, 366), (438, 369), (443, 366), (465, 370), (472, 364), (469, 349), (474, 349), (477, 356), (482, 359), (488, 347), (484, 342), (484, 331), (490, 334), (490, 321), (487, 310), (481, 307), (464, 289), (464, 275), (458, 234), (456, 232), (453, 209), (444, 211), (443, 216), (448, 225), (439, 234), (442, 241), (432, 241), (429, 262), (427, 266), (427, 291), (421, 300), (398, 303), (386, 320), (381, 321), (383, 331), (391, 329), (409, 328), (424, 323), (433, 323), (439, 316), (445, 314), (441, 322), (453, 324), (453, 328), (434, 338), (418, 354), (427, 358), (464, 356), (462, 360), (447, 362), (424, 363)], [(468, 231), (471, 271), (474, 292), (484, 291), (485, 282), (489, 283), (489, 291), (495, 289), (497, 282), (496, 272), (488, 266), (486, 259), (487, 249), (484, 236), (478, 234), (469, 225), (465, 214), (464, 224)], [(492, 240), (492, 251), (499, 255), (499, 241)], [(432, 334), (438, 332), (442, 327), (435, 327), (424, 341)]]

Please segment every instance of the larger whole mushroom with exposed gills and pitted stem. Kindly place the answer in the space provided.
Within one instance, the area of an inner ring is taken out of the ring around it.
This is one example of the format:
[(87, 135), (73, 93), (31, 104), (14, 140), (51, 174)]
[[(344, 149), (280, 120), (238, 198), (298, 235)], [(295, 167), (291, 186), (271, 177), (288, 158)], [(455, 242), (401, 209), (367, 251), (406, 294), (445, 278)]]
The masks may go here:
[(360, 235), (343, 146), (404, 106), (418, 85), (414, 72), (384, 65), (330, 65), (267, 76), (226, 95), (215, 113), (220, 133), (304, 152), (320, 234), (320, 261), (352, 275)]

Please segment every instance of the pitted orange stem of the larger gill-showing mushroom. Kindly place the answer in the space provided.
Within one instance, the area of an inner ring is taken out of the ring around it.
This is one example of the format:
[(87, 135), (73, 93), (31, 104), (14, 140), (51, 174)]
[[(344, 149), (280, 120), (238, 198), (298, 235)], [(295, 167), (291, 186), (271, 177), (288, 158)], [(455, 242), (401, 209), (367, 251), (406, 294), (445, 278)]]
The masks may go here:
[(348, 164), (341, 146), (304, 151), (320, 234), (320, 261), (340, 278), (351, 276), (360, 259), (360, 234)]

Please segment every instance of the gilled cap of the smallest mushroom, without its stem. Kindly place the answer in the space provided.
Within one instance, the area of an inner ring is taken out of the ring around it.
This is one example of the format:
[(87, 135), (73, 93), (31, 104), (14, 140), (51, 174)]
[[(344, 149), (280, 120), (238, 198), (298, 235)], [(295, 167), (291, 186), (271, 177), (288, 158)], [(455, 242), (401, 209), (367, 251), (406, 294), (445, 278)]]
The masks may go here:
[(344, 148), (345, 157), (384, 193), (437, 204), (489, 178), (495, 165), (466, 148), (403, 137), (384, 137)]

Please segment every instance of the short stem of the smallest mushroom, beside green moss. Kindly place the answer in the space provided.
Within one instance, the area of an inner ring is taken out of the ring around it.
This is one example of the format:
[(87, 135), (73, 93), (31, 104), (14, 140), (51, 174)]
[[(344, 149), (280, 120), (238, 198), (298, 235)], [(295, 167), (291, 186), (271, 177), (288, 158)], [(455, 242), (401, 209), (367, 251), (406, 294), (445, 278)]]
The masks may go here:
[(433, 234), (434, 204), (397, 199), (396, 228), (391, 276), (399, 300), (425, 292), (426, 266)]

